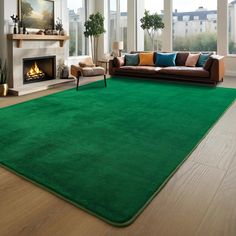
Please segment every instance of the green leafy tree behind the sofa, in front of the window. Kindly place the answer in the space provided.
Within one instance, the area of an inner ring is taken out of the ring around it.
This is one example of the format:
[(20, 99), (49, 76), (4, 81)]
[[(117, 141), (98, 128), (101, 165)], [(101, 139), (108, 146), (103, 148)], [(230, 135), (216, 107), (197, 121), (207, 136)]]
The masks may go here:
[(159, 29), (165, 27), (162, 18), (157, 13), (150, 14), (149, 11), (145, 10), (144, 17), (140, 19), (140, 22), (141, 28), (147, 31), (152, 41), (152, 49), (154, 50), (154, 41), (157, 37), (157, 32)]

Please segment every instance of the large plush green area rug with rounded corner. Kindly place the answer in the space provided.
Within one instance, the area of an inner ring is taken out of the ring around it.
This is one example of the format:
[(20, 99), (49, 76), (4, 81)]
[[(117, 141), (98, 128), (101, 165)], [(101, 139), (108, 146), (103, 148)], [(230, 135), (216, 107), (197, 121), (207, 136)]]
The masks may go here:
[(112, 78), (0, 109), (0, 163), (124, 226), (236, 98), (236, 90)]

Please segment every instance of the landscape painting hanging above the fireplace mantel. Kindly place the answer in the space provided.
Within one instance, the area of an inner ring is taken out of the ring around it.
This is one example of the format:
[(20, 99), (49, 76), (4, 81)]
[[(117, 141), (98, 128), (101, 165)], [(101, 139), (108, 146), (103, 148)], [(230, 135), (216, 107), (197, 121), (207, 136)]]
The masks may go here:
[(53, 0), (19, 0), (19, 16), (27, 29), (54, 29)]

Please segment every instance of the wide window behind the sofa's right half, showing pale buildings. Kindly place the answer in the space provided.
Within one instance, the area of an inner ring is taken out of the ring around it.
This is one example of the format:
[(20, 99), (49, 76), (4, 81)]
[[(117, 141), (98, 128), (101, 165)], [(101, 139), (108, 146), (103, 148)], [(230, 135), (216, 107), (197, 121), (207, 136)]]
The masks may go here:
[(173, 50), (217, 50), (217, 0), (173, 0)]

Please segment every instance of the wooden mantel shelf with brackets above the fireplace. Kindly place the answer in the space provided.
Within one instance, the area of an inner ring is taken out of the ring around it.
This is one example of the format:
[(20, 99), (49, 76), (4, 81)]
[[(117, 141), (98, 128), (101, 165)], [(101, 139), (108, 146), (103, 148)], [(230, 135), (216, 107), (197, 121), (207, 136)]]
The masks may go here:
[(69, 36), (62, 35), (38, 35), (38, 34), (8, 34), (8, 40), (15, 40), (17, 42), (17, 47), (22, 47), (23, 41), (58, 41), (60, 47), (64, 46), (66, 40), (69, 39)]

